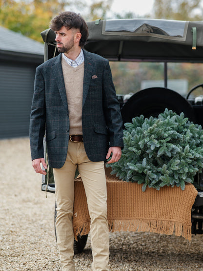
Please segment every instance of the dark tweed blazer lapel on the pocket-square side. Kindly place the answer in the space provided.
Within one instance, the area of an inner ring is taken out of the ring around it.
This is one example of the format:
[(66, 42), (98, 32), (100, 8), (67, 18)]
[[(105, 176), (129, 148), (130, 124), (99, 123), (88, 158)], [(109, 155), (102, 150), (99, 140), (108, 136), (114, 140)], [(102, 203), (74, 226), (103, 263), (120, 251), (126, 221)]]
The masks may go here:
[(83, 53), (84, 53), (84, 79), (83, 79), (82, 106), (84, 105), (86, 97), (87, 97), (89, 83), (92, 76), (93, 64), (94, 64), (91, 55), (84, 50), (83, 50)]

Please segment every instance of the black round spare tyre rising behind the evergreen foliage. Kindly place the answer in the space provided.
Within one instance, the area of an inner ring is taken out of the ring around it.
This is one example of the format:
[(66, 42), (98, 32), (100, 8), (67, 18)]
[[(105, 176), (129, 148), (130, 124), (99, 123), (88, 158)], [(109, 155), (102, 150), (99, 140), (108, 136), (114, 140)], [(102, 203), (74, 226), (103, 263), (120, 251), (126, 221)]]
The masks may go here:
[(158, 117), (165, 108), (180, 114), (184, 113), (190, 121), (195, 122), (192, 105), (179, 93), (168, 88), (151, 87), (135, 93), (121, 108), (123, 124), (132, 122), (132, 118), (144, 115)]

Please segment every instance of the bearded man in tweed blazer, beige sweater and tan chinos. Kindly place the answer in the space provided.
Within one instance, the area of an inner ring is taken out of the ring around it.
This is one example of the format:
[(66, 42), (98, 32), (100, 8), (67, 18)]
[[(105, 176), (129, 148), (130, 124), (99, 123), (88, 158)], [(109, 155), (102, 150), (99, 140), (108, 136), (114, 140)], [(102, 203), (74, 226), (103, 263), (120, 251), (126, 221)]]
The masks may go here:
[(48, 163), (53, 167), (57, 244), (63, 271), (75, 270), (73, 202), (76, 168), (81, 174), (91, 218), (93, 271), (108, 271), (107, 194), (104, 160), (121, 157), (122, 117), (110, 66), (82, 48), (88, 29), (82, 17), (62, 12), (50, 24), (56, 33), (59, 56), (36, 69), (30, 117), (32, 165), (41, 163), (46, 126)]

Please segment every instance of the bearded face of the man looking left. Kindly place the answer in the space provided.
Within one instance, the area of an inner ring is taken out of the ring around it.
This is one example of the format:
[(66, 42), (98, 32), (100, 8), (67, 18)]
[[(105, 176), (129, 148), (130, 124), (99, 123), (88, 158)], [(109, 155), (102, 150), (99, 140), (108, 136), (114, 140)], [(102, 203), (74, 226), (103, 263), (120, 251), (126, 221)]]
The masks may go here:
[(74, 35), (76, 29), (71, 28), (67, 30), (65, 26), (62, 26), (59, 31), (55, 31), (57, 42), (57, 48), (60, 53), (68, 53), (75, 45)]

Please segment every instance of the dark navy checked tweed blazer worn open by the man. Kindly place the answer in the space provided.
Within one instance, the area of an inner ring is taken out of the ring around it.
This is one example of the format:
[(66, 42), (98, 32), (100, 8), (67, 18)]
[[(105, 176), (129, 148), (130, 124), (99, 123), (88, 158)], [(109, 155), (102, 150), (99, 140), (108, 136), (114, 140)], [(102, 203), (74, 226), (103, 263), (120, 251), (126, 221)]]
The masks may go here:
[[(122, 117), (109, 62), (84, 51), (82, 134), (86, 154), (104, 161), (109, 146), (123, 146)], [(77, 110), (77, 108), (76, 108)], [(50, 167), (65, 163), (69, 141), (69, 114), (61, 54), (36, 69), (30, 115), (32, 160), (44, 157), (43, 137)]]

